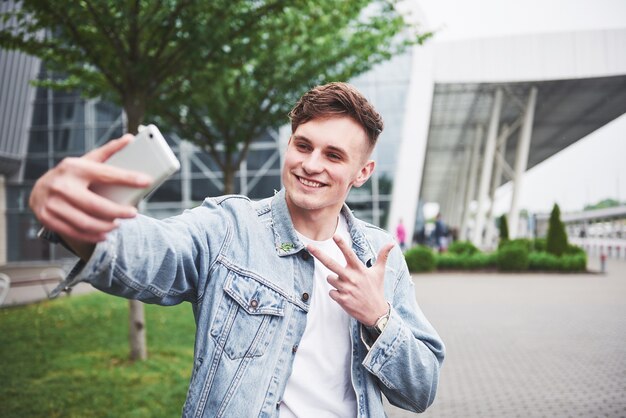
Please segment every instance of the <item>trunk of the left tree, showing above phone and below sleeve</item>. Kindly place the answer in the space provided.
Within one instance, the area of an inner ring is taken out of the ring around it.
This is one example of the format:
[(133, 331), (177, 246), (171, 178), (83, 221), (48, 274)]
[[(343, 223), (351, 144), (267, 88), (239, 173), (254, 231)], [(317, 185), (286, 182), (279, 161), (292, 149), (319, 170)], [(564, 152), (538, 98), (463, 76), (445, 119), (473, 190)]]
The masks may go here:
[[(128, 132), (136, 135), (144, 115), (143, 101), (128, 100), (124, 103)], [(130, 360), (146, 360), (148, 347), (146, 344), (146, 320), (144, 306), (138, 300), (128, 301), (128, 343), (130, 344)]]

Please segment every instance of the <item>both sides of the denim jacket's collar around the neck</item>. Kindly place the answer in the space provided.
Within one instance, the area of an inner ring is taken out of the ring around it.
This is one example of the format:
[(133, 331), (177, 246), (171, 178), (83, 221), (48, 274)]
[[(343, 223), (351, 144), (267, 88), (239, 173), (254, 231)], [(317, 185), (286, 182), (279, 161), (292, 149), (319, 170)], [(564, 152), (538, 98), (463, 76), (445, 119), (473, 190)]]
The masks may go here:
[[(304, 244), (298, 238), (293, 226), (285, 189), (281, 189), (270, 200), (272, 213), (272, 226), (274, 230), (274, 244), (280, 257), (296, 254), (304, 249)], [(374, 251), (365, 236), (361, 222), (352, 214), (352, 211), (343, 204), (341, 214), (345, 217), (352, 238), (352, 248), (357, 257), (366, 265), (371, 265), (374, 260)]]

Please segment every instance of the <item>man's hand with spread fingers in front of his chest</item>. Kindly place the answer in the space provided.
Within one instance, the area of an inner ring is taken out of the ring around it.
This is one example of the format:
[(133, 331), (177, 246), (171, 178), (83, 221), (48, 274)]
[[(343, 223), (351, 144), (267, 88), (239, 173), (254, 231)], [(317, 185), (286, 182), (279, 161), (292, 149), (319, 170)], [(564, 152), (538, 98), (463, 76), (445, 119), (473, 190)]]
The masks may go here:
[(378, 253), (376, 264), (367, 268), (339, 235), (333, 236), (333, 240), (346, 258), (345, 267), (313, 245), (308, 245), (307, 250), (335, 273), (327, 279), (334, 287), (329, 293), (331, 299), (361, 324), (373, 326), (388, 309), (384, 291), (385, 265), (394, 244), (383, 246)]

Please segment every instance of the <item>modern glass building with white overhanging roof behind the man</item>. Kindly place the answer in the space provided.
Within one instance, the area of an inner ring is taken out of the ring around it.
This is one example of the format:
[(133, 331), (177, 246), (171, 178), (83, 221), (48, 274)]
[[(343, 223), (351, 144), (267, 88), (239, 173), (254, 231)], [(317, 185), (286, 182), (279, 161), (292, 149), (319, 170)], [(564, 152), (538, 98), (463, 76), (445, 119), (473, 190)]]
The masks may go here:
[[(437, 202), (460, 238), (488, 246), (495, 190), (513, 181), (515, 234), (523, 173), (626, 112), (625, 50), (626, 28), (427, 44), (378, 66), (353, 81), (385, 130), (376, 172), (348, 204), (383, 228), (402, 219), (417, 232), (423, 204)], [(61, 159), (124, 131), (124, 115), (109, 103), (29, 84), (45, 71), (39, 60), (0, 51), (0, 265), (69, 256), (36, 238), (32, 185)], [(156, 217), (222, 190), (206, 153), (166, 136), (182, 168), (142, 204)], [(237, 193), (258, 199), (281, 187), (288, 136), (286, 128), (255, 141), (237, 172)]]

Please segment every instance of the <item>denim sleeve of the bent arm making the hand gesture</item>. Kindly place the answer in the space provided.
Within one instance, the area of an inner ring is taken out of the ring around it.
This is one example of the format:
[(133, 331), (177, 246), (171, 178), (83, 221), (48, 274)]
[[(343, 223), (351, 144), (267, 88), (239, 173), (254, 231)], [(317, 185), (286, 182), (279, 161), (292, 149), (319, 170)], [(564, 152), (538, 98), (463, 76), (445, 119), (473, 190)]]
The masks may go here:
[(391, 315), (363, 366), (378, 378), (380, 389), (392, 405), (423, 412), (435, 399), (445, 348), (417, 305), (413, 281), (401, 252), (393, 253), (394, 265), (402, 267), (396, 271), (400, 278), (391, 301)]

